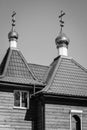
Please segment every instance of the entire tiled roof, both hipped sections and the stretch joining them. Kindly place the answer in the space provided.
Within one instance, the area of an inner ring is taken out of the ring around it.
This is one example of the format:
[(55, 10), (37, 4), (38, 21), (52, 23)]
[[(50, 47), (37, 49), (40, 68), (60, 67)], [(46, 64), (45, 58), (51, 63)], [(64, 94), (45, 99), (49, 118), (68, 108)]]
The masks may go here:
[(9, 48), (0, 65), (0, 82), (46, 86), (40, 91), (46, 94), (87, 97), (87, 70), (64, 56), (48, 67), (28, 64), (19, 50)]

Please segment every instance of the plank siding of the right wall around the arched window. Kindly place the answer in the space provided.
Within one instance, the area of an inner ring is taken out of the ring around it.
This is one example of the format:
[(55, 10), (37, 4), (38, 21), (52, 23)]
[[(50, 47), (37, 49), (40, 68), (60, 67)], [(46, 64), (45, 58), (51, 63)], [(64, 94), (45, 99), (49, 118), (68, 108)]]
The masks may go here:
[(82, 130), (87, 130), (87, 107), (45, 104), (45, 130), (70, 130), (70, 110), (82, 110)]

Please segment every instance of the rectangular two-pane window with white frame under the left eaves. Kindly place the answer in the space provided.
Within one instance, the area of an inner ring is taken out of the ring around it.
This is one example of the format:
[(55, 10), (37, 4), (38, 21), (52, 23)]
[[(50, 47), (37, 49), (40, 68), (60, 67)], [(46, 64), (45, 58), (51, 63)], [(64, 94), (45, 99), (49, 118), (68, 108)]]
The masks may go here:
[(15, 90), (14, 106), (19, 108), (29, 108), (29, 92)]

